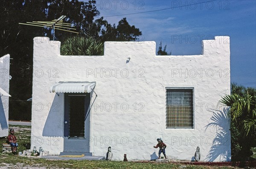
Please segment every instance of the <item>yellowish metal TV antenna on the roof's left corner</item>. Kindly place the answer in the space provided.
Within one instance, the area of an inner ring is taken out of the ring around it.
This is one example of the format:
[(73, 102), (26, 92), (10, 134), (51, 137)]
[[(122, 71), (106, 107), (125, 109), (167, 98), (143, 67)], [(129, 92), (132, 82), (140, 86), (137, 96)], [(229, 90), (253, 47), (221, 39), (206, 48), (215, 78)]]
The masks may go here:
[(73, 28), (74, 26), (72, 26), (72, 24), (70, 24), (70, 23), (63, 23), (63, 19), (65, 17), (66, 17), (65, 15), (61, 15), (61, 17), (59, 17), (58, 19), (55, 19), (55, 20), (52, 20), (52, 21), (49, 21), (49, 22), (32, 21), (32, 23), (31, 22), (26, 22), (26, 23), (19, 23), (19, 24), (31, 25), (31, 26), (40, 26), (40, 27), (44, 27), (44, 28), (52, 28), (53, 29), (53, 40), (55, 39), (55, 29), (79, 34), (78, 32), (75, 32), (75, 31), (66, 30), (66, 29), (73, 29), (73, 30), (76, 30), (76, 29)]

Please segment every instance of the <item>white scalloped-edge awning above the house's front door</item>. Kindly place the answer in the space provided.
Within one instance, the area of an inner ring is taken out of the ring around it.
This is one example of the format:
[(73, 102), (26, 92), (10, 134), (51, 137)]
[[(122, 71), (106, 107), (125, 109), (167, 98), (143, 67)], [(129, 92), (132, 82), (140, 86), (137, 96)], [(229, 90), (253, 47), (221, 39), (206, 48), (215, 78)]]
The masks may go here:
[(59, 82), (50, 87), (50, 93), (90, 93), (96, 82)]

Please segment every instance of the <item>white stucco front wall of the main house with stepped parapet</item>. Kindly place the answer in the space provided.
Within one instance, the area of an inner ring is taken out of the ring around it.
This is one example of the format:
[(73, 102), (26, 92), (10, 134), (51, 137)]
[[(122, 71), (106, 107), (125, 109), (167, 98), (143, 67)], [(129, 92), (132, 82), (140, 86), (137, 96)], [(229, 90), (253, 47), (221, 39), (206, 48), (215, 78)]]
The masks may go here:
[[(229, 122), (218, 104), (230, 94), (229, 37), (205, 40), (202, 54), (191, 56), (156, 56), (155, 42), (105, 42), (104, 56), (61, 56), (60, 45), (34, 38), (32, 147), (52, 155), (63, 151), (64, 95), (49, 93), (49, 87), (96, 81), (94, 155), (105, 156), (111, 146), (115, 160), (124, 153), (129, 160), (148, 160), (158, 155), (153, 146), (161, 137), (169, 158), (191, 160), (199, 146), (201, 161), (230, 161)], [(193, 129), (166, 129), (166, 87), (194, 87)]]

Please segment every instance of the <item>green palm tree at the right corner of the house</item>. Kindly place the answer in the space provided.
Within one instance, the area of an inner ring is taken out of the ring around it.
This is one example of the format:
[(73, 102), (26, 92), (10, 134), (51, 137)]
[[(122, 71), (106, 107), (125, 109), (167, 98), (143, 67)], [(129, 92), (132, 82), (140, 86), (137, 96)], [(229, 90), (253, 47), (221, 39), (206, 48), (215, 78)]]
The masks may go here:
[(247, 159), (250, 148), (256, 146), (256, 89), (233, 83), (231, 91), (231, 95), (224, 96), (221, 103), (230, 106), (232, 147), (241, 148), (234, 156)]

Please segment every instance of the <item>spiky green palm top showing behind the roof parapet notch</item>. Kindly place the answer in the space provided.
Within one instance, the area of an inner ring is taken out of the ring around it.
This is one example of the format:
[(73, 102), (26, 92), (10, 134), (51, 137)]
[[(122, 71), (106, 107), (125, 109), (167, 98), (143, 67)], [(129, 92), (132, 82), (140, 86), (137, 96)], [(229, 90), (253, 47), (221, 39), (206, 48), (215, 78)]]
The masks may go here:
[(61, 55), (103, 55), (104, 45), (92, 37), (70, 37), (61, 45)]

